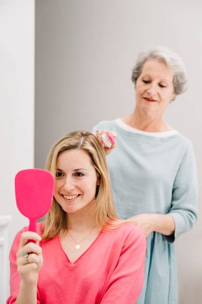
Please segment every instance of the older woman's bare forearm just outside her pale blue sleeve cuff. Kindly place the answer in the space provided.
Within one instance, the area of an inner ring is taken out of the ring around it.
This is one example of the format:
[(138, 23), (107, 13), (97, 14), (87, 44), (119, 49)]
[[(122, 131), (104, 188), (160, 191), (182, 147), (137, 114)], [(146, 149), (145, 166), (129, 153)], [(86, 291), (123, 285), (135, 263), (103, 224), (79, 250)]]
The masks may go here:
[(153, 231), (171, 236), (175, 231), (175, 222), (169, 214), (154, 214)]

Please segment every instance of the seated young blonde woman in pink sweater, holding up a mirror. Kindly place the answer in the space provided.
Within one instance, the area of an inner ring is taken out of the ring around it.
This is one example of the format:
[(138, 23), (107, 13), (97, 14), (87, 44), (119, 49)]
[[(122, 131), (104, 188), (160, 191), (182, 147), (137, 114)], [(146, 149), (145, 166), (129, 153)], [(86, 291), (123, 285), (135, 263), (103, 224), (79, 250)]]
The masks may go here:
[(145, 236), (114, 211), (102, 145), (89, 132), (66, 134), (47, 170), (55, 175), (54, 200), (38, 234), (25, 227), (15, 237), (7, 304), (134, 304)]

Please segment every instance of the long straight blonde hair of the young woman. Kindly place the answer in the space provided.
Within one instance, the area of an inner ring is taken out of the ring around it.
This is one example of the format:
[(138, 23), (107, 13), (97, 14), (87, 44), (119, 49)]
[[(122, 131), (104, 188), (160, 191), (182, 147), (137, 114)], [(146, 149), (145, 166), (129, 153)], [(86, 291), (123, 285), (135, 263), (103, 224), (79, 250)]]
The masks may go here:
[[(95, 200), (92, 205), (94, 226), (103, 227), (104, 231), (109, 231), (120, 226), (124, 221), (120, 220), (116, 215), (105, 152), (95, 135), (87, 131), (75, 131), (63, 135), (49, 152), (47, 170), (55, 176), (58, 155), (63, 151), (72, 149), (81, 150), (90, 156), (100, 180), (100, 185), (97, 186)], [(42, 239), (53, 238), (58, 234), (64, 233), (67, 229), (66, 212), (63, 211), (61, 205), (53, 198), (52, 206), (47, 214)]]

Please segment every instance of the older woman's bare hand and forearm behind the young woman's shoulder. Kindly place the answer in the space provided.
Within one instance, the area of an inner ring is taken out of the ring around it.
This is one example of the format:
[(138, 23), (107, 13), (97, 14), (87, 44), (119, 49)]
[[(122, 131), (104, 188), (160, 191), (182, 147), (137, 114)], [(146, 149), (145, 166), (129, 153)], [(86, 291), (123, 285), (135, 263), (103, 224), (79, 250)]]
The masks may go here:
[(158, 232), (170, 236), (175, 231), (175, 222), (170, 214), (146, 214), (142, 213), (128, 219), (138, 225), (147, 237), (152, 232)]

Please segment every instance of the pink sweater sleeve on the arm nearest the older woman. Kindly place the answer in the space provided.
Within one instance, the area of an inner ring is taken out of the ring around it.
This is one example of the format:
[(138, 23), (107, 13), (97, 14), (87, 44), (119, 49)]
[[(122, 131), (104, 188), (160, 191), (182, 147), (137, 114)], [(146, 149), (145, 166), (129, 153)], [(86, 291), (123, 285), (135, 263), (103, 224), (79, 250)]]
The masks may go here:
[(146, 238), (135, 226), (122, 248), (117, 266), (111, 274), (101, 304), (134, 304), (140, 296), (144, 282)]

